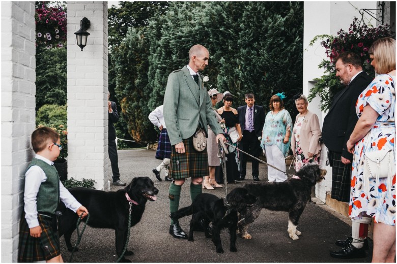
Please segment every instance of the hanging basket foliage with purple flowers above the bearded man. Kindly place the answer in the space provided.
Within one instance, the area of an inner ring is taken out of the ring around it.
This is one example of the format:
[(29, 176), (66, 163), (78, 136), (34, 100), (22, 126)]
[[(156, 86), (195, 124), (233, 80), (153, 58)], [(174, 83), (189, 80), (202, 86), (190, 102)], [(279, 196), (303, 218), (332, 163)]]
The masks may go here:
[(384, 37), (390, 37), (390, 26), (379, 25), (371, 27), (365, 24), (360, 24), (357, 18), (353, 19), (353, 23), (347, 31), (341, 29), (337, 32), (336, 36), (319, 35), (311, 40), (309, 46), (317, 40), (325, 39), (320, 42), (326, 51), (328, 59), (323, 59), (319, 64), (320, 69), (324, 69), (324, 75), (315, 79), (317, 82), (310, 90), (308, 100), (313, 100), (316, 96), (320, 97), (320, 108), (326, 111), (331, 106), (333, 96), (344, 88), (335, 75), (334, 59), (342, 52), (351, 51), (360, 56), (365, 71), (371, 77), (375, 76), (374, 69), (370, 65), (370, 55), (368, 49), (375, 40)]

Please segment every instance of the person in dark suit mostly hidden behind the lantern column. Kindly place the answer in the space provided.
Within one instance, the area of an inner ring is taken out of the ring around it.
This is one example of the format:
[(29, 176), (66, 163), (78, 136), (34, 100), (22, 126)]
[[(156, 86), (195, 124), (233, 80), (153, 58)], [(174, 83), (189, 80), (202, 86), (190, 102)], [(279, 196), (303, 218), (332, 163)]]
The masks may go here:
[[(109, 99), (110, 93), (107, 94), (107, 99)], [(119, 121), (119, 114), (117, 113), (117, 107), (115, 102), (107, 101), (108, 111), (109, 111), (109, 137), (108, 137), (108, 153), (111, 163), (111, 172), (113, 173), (113, 185), (125, 186), (125, 182), (120, 181), (119, 172), (119, 156), (117, 155), (117, 145), (116, 145), (116, 129), (115, 123)]]

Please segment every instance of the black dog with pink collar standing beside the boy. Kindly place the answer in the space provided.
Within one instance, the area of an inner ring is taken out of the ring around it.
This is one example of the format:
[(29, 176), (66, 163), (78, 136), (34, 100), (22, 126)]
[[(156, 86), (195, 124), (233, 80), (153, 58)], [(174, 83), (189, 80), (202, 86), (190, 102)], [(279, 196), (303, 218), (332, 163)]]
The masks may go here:
[[(70, 193), (83, 206), (88, 209), (90, 219), (88, 225), (98, 228), (111, 228), (116, 230), (116, 253), (120, 256), (127, 240), (128, 228), (134, 226), (140, 221), (145, 211), (146, 202), (156, 201), (158, 189), (154, 187), (153, 181), (149, 177), (138, 177), (132, 179), (124, 189), (118, 191), (100, 191), (83, 187), (69, 189)], [(127, 195), (132, 200), (131, 225), (128, 227), (128, 217), (130, 202)], [(61, 203), (59, 211), (62, 212), (60, 217), (60, 236), (64, 235), (65, 242), (69, 251), (73, 250), (70, 238), (78, 216), (72, 210)], [(85, 221), (87, 219), (84, 218)], [(133, 252), (127, 250), (125, 255), (132, 255)], [(131, 262), (123, 257), (123, 262)]]

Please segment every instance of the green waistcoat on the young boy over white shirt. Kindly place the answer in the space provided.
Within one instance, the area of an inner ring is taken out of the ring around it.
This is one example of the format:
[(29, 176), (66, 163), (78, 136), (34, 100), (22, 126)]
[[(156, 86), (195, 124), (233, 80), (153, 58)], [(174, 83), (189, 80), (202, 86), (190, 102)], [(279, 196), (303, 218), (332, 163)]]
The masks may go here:
[(26, 171), (35, 165), (43, 169), (47, 176), (47, 180), (40, 184), (39, 192), (37, 193), (37, 211), (54, 214), (60, 201), (58, 171), (56, 171), (54, 166), (51, 166), (45, 161), (37, 158), (32, 159), (32, 162), (29, 164)]

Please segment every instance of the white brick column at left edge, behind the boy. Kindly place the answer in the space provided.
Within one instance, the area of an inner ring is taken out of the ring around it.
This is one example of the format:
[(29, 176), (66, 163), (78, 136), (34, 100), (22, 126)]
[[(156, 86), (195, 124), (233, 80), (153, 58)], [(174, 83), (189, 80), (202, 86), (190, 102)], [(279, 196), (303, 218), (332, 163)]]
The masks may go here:
[(2, 262), (16, 262), (24, 173), (34, 152), (35, 2), (2, 2)]

